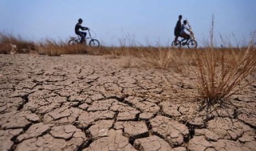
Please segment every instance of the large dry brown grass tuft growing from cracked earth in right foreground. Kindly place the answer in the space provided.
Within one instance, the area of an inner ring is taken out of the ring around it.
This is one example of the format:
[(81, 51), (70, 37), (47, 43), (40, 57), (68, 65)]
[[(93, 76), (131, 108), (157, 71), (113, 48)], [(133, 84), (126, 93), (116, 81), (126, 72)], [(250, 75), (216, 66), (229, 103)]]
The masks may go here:
[(192, 83), (198, 92), (199, 108), (195, 110), (197, 114), (193, 119), (204, 112), (204, 120), (209, 120), (217, 108), (236, 110), (231, 96), (256, 82), (255, 77), (250, 77), (256, 70), (255, 35), (256, 31), (246, 50), (233, 50), (231, 53), (215, 51), (213, 47), (206, 51), (195, 49), (195, 66), (190, 65), (190, 71), (195, 77)]

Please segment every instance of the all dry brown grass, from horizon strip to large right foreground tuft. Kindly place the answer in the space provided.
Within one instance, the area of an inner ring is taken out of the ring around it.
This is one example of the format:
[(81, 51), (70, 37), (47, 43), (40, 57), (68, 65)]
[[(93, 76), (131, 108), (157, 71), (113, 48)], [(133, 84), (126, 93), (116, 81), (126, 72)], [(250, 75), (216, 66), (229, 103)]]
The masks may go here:
[[(121, 66), (128, 68), (132, 66), (133, 57), (139, 58), (137, 66), (159, 68), (166, 74), (178, 73), (190, 77), (188, 85), (196, 90), (193, 96), (184, 95), (182, 98), (193, 98), (198, 101), (198, 109), (194, 112), (206, 111), (208, 114), (215, 111), (217, 107), (225, 104), (232, 106), (229, 98), (239, 90), (256, 81), (250, 77), (256, 69), (255, 33), (246, 48), (214, 48), (213, 25), (210, 31), (211, 47), (192, 49), (172, 49), (165, 47), (100, 47), (91, 48), (81, 44), (68, 45), (67, 42), (53, 39), (45, 39), (43, 42), (35, 43), (25, 40), (12, 33), (0, 32), (0, 53), (9, 54), (10, 44), (17, 45), (17, 53), (37, 53), (49, 56), (63, 54), (91, 54), (106, 55), (111, 59), (122, 59)], [(26, 52), (25, 52), (26, 50)], [(167, 80), (168, 82), (168, 80)], [(177, 89), (172, 86), (172, 90)], [(179, 90), (179, 92), (183, 89)], [(175, 90), (173, 92), (178, 92)], [(173, 95), (172, 97), (175, 97)], [(222, 106), (223, 107), (223, 106)], [(209, 115), (206, 115), (209, 117)], [(198, 117), (198, 114), (190, 119)], [(188, 118), (187, 118), (188, 119)]]

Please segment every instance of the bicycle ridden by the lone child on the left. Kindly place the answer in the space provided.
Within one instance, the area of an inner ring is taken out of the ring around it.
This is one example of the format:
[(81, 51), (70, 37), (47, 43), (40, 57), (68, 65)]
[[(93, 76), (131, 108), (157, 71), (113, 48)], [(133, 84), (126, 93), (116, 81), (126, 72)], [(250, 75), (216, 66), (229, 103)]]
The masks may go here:
[[(91, 37), (91, 33), (90, 33), (89, 28), (88, 28), (88, 33), (89, 33), (89, 37), (85, 38), (84, 44), (85, 45), (87, 44), (86, 43), (87, 39), (91, 39), (90, 42), (89, 42), (90, 47), (100, 47), (99, 40)], [(78, 37), (70, 37), (70, 40), (68, 41), (68, 44), (69, 45), (77, 44), (77, 43), (80, 43), (80, 40), (81, 40), (81, 37), (79, 35), (78, 35)]]

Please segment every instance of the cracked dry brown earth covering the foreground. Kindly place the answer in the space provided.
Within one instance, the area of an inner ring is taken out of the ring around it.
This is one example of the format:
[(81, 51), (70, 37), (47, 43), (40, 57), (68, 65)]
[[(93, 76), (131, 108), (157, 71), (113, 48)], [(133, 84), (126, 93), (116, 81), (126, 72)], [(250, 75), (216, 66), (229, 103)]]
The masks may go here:
[[(134, 59), (135, 60), (135, 59)], [(104, 56), (0, 55), (0, 150), (256, 150), (256, 119), (219, 111), (208, 122), (174, 120), (192, 103), (164, 98), (153, 68)], [(133, 62), (132, 62), (133, 63)], [(169, 75), (176, 87), (188, 78)], [(232, 98), (256, 114), (256, 85)]]

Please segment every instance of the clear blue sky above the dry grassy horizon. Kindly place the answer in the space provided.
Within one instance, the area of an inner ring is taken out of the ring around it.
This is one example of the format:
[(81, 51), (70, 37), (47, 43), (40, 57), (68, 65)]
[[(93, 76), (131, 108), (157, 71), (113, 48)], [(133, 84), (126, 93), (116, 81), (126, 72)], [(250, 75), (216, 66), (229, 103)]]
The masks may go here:
[[(215, 15), (215, 41), (220, 34), (233, 45), (256, 30), (255, 0), (0, 0), (0, 30), (25, 38), (67, 40), (79, 18), (105, 45), (126, 39), (146, 45), (171, 43), (178, 15), (188, 19), (199, 45), (209, 39)], [(234, 36), (235, 35), (235, 38)]]

